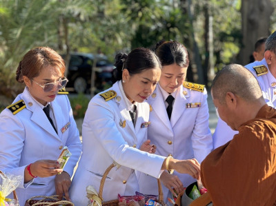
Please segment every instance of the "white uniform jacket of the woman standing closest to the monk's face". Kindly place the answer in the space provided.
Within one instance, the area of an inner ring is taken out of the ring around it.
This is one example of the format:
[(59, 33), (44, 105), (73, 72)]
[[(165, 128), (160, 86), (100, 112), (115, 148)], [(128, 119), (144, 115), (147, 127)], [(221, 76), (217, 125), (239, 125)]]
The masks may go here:
[[(196, 158), (199, 163), (213, 150), (212, 134), (208, 127), (207, 92), (199, 92), (179, 87), (175, 94), (170, 120), (166, 112), (166, 96), (162, 95), (161, 87), (157, 85), (155, 92), (148, 98), (152, 107), (148, 139), (157, 146), (155, 154), (172, 155), (180, 160)], [(164, 90), (163, 90), (164, 91)], [(167, 93), (168, 95), (168, 93)], [(172, 94), (173, 96), (173, 94)], [(189, 106), (189, 103), (192, 103)], [(194, 107), (193, 105), (199, 105)], [(184, 187), (196, 180), (188, 174), (174, 172)], [(157, 181), (146, 174), (138, 173), (140, 192), (143, 194), (158, 194)], [(164, 200), (171, 198), (170, 191), (162, 185)]]

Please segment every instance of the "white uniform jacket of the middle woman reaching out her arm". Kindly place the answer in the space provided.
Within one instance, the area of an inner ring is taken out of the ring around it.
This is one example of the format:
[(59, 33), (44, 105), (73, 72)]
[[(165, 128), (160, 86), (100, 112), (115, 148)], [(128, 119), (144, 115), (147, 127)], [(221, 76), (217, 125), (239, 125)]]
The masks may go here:
[(121, 81), (101, 94), (106, 95), (108, 91), (114, 91), (117, 95), (107, 95), (105, 101), (97, 94), (90, 101), (84, 117), (83, 153), (70, 187), (70, 198), (76, 206), (88, 204), (88, 185), (99, 192), (101, 175), (114, 161), (121, 167), (114, 167), (109, 172), (110, 178), (106, 178), (103, 186), (104, 201), (115, 200), (118, 194), (134, 195), (139, 190), (135, 169), (155, 178), (161, 174), (165, 157), (137, 149), (146, 141), (147, 127), (144, 125), (148, 123), (150, 113), (148, 103), (137, 103), (134, 127)]

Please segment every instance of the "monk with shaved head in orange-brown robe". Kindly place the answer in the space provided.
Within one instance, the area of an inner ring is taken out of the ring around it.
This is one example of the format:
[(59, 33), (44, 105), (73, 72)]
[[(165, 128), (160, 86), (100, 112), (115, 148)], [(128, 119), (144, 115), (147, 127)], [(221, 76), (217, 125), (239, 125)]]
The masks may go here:
[(276, 110), (242, 65), (224, 67), (211, 94), (221, 119), (239, 132), (201, 163), (213, 205), (276, 205)]

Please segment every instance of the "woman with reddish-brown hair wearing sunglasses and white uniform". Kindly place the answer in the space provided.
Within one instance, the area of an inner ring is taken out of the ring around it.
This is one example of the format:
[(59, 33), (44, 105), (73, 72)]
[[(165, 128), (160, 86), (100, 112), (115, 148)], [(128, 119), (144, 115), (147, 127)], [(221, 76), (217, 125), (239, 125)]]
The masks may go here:
[[(25, 90), (0, 114), (0, 170), (23, 176), (17, 188), (19, 205), (32, 196), (69, 198), (81, 142), (68, 97), (58, 94), (68, 82), (64, 71), (64, 61), (54, 50), (27, 52), (16, 76)], [(61, 169), (57, 158), (65, 146), (72, 156)]]

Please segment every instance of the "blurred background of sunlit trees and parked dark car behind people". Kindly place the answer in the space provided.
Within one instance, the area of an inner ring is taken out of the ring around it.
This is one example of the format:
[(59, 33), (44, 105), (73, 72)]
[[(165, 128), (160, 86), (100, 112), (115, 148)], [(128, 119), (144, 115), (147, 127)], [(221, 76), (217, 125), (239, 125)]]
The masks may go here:
[(23, 85), (15, 81), (28, 50), (48, 46), (66, 61), (76, 118), (112, 84), (117, 52), (176, 40), (188, 48), (187, 81), (210, 86), (228, 63), (246, 65), (275, 30), (276, 0), (0, 0), (0, 111)]

